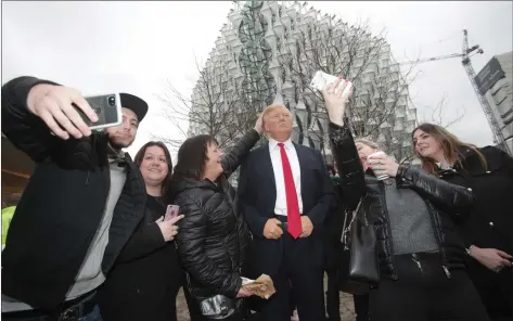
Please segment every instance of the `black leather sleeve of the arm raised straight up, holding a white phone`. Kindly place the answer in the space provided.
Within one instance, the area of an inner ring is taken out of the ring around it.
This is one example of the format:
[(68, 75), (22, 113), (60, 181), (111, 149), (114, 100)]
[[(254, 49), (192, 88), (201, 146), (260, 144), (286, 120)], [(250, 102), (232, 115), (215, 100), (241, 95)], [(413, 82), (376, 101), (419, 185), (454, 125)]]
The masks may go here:
[(345, 210), (352, 211), (358, 206), (361, 197), (367, 193), (365, 176), (358, 156), (352, 134), (347, 127), (330, 123), (329, 136), (332, 144), (333, 156), (341, 177), (341, 202)]

